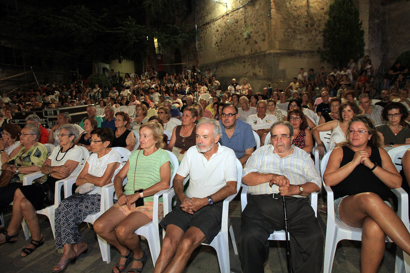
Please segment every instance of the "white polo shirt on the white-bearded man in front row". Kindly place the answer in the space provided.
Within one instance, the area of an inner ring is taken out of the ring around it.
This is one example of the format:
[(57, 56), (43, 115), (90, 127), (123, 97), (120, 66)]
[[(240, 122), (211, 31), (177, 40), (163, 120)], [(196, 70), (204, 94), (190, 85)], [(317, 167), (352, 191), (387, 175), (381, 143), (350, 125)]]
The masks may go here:
[(196, 146), (189, 148), (177, 171), (182, 177), (189, 174), (188, 198), (204, 198), (220, 190), (227, 181), (238, 181), (236, 160), (234, 151), (219, 143), (210, 160)]

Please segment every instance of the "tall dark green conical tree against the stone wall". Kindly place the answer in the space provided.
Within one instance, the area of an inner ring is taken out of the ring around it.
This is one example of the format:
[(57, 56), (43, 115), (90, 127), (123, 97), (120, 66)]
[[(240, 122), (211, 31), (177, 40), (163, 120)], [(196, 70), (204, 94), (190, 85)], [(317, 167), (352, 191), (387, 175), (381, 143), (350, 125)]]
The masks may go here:
[(364, 30), (359, 20), (359, 10), (353, 0), (334, 0), (329, 6), (328, 20), (323, 29), (323, 49), (319, 48), (321, 61), (339, 67), (364, 56)]

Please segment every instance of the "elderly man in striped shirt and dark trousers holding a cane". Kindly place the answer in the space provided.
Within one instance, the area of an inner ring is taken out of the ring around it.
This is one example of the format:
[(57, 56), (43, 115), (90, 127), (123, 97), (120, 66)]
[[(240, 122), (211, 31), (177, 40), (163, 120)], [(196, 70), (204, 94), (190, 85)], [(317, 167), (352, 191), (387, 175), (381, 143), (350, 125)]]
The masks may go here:
[(320, 176), (310, 156), (292, 145), (292, 124), (274, 123), (271, 140), (271, 145), (252, 153), (243, 172), (242, 182), (250, 193), (239, 245), (243, 271), (264, 272), (269, 235), (287, 226), (288, 251), (292, 250), (289, 272), (319, 272), (323, 234), (307, 196), (320, 190)]

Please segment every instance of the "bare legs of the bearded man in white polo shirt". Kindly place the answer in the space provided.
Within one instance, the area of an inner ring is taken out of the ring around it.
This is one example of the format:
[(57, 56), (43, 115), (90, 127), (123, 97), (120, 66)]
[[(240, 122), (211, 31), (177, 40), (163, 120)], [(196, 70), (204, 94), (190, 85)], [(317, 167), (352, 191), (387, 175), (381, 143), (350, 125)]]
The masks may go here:
[[(205, 239), (199, 228), (191, 226), (184, 234), (178, 226), (168, 225), (154, 272), (182, 272), (192, 252)], [(174, 256), (176, 252), (178, 255)]]

